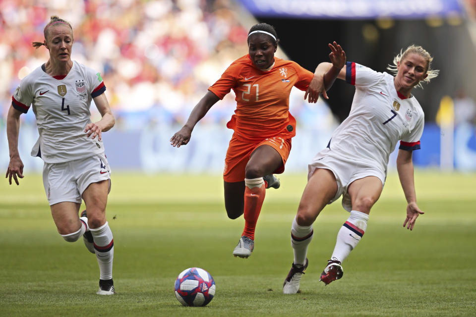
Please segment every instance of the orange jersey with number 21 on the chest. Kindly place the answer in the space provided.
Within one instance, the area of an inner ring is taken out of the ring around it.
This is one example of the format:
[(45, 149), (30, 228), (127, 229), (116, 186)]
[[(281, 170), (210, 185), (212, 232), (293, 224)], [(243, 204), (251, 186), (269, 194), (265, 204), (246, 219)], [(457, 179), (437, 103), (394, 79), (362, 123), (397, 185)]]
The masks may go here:
[[(242, 141), (260, 142), (286, 133), (296, 135), (296, 122), (289, 113), (289, 95), (293, 86), (306, 90), (313, 73), (296, 62), (274, 58), (269, 71), (257, 68), (249, 55), (235, 60), (208, 90), (223, 99), (231, 89), (237, 109), (227, 127)], [(291, 127), (289, 127), (291, 125)]]

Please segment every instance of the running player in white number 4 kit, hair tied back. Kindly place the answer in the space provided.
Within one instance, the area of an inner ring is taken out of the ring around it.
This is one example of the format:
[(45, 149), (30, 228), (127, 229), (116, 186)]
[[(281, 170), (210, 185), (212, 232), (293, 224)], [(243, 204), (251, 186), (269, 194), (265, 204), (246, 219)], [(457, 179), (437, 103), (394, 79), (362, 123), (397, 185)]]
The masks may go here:
[[(73, 44), (71, 25), (52, 16), (44, 29), (44, 45), (49, 60), (20, 82), (7, 115), (10, 163), (6, 177), (23, 178), (23, 163), (18, 153), (19, 118), (33, 106), (39, 138), (31, 155), (44, 160), (43, 184), (58, 232), (68, 242), (83, 236), (100, 268), (97, 294), (114, 294), (112, 266), (114, 240), (106, 221), (110, 190), (108, 160), (101, 132), (114, 126), (114, 116), (104, 94), (100, 73), (70, 58)], [(91, 122), (89, 107), (94, 100), (101, 120)], [(86, 211), (78, 212), (81, 201)]]

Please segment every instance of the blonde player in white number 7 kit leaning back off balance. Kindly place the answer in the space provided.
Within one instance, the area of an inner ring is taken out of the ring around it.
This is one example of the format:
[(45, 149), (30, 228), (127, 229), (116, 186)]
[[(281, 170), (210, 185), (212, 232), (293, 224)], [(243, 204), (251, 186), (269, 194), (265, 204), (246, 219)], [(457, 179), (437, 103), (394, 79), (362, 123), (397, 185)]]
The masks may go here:
[(342, 277), (341, 264), (365, 232), (370, 209), (385, 183), (389, 155), (399, 140), (397, 170), (408, 203), (404, 227), (413, 230), (416, 218), (423, 213), (416, 204), (412, 151), (420, 148), (424, 114), (411, 91), (421, 85), (420, 81), (437, 76), (438, 71), (431, 70), (433, 58), (423, 48), (412, 45), (389, 66), (393, 76), (346, 62), (346, 54), (336, 42), (329, 47), (332, 63), (320, 63), (309, 86), (327, 98), (325, 91), (339, 78), (355, 85), (356, 93), (349, 116), (309, 164), (307, 185), (291, 227), (294, 262), (283, 285), (285, 294), (299, 290), (308, 265), (312, 224), (325, 205), (341, 195), (350, 216), (337, 234), (334, 252), (320, 280), (327, 285)]

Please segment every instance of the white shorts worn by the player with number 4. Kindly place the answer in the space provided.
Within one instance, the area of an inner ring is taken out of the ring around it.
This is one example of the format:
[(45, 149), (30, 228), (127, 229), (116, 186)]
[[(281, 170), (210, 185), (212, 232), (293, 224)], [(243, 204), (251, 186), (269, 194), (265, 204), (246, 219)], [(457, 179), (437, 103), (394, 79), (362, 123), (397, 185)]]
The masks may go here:
[(89, 184), (109, 179), (111, 168), (104, 154), (86, 159), (43, 165), (43, 186), (51, 205), (61, 202), (81, 204), (81, 195)]

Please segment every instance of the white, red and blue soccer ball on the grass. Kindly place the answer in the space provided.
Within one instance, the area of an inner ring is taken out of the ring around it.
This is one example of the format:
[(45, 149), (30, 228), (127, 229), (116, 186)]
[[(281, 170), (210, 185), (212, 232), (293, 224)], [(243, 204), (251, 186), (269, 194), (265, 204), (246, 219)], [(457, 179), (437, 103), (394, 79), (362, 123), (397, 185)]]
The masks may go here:
[(175, 280), (175, 296), (183, 306), (205, 306), (215, 296), (215, 281), (202, 268), (187, 268)]

